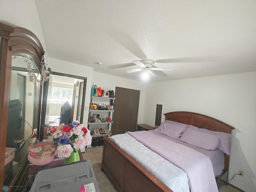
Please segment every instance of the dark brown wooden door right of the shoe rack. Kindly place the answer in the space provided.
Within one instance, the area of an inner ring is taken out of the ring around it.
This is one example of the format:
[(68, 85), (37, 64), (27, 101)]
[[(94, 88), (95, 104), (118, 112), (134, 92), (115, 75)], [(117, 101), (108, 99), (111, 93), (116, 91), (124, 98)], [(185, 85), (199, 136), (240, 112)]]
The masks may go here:
[(136, 131), (140, 91), (116, 87), (112, 135)]

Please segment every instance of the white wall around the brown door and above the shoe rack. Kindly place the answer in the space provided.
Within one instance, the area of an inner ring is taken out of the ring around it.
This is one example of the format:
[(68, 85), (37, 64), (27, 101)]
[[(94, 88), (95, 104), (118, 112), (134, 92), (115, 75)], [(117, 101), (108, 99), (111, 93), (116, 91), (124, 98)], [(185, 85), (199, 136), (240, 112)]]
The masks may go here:
[[(108, 74), (103, 74), (99, 72), (93, 72), (92, 77), (92, 85), (97, 85), (97, 87), (101, 87), (102, 89), (107, 88), (107, 90), (114, 90), (116, 87), (122, 87), (122, 88), (128, 88), (128, 89), (134, 89), (134, 90), (140, 90), (140, 103), (139, 103), (139, 110), (138, 110), (138, 124), (143, 122), (143, 108), (144, 108), (144, 98), (145, 98), (145, 83), (144, 82), (138, 82), (134, 80), (129, 80), (126, 78), (116, 77)], [(89, 106), (89, 105), (88, 105)]]

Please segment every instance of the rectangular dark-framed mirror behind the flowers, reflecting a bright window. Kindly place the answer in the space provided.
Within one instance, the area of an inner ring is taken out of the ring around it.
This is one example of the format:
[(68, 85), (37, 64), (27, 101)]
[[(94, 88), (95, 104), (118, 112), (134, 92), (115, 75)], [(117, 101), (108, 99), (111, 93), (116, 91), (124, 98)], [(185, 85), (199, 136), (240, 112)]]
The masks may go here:
[(52, 72), (48, 88), (46, 124), (51, 127), (60, 123), (68, 124), (73, 120), (82, 122), (85, 81), (84, 77)]

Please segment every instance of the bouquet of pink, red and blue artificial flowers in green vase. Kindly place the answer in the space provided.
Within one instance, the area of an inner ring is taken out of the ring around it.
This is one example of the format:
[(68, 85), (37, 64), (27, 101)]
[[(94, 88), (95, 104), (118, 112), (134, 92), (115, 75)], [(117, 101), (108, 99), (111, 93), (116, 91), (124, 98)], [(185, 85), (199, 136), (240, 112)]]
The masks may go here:
[(52, 134), (53, 140), (58, 142), (58, 157), (67, 158), (75, 149), (84, 148), (92, 143), (92, 136), (88, 130), (79, 121), (71, 124), (60, 124), (56, 128), (56, 132)]

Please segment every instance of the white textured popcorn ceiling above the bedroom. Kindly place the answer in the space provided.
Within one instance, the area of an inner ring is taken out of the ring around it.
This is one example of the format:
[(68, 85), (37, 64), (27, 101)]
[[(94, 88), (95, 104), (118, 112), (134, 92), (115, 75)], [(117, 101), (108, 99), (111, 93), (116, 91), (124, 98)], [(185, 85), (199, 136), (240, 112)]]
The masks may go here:
[[(150, 81), (256, 71), (255, 0), (35, 0), (48, 57)], [(102, 62), (102, 65), (96, 64)]]

